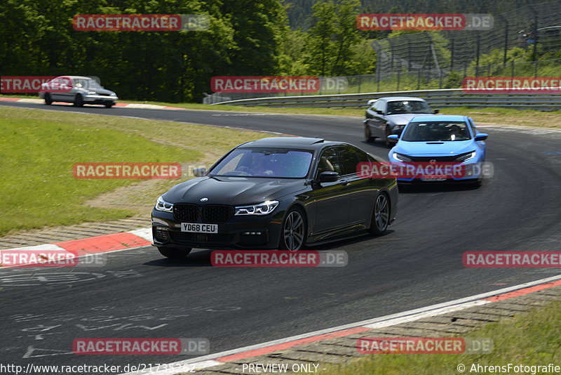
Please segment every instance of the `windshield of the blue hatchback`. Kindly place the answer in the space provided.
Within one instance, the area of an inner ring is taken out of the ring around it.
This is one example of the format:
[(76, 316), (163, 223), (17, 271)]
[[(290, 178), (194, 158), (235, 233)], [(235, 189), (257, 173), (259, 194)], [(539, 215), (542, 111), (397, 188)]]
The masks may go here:
[(405, 128), (402, 140), (417, 141), (442, 141), (442, 140), (468, 140), (471, 139), (468, 124), (463, 121), (427, 121), (411, 122)]

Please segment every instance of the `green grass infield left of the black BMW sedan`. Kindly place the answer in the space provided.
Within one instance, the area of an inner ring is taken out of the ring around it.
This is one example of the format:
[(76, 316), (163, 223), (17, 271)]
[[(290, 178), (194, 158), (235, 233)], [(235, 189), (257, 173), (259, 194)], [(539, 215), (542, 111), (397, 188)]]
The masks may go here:
[[(263, 133), (172, 121), (0, 107), (0, 235), (12, 230), (125, 218), (127, 204), (86, 205), (138, 180), (79, 180), (77, 162), (180, 162), (215, 160)], [(158, 180), (144, 194), (152, 204), (178, 180)]]

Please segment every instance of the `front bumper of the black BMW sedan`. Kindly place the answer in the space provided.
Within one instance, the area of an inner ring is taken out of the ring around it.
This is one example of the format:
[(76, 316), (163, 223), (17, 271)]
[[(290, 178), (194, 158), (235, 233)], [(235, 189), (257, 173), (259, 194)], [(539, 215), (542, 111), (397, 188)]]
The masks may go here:
[(152, 238), (158, 247), (278, 249), (282, 223), (283, 211), (273, 211), (266, 216), (233, 216), (217, 224), (218, 233), (191, 233), (181, 231), (181, 222), (173, 218), (173, 213), (153, 209)]

